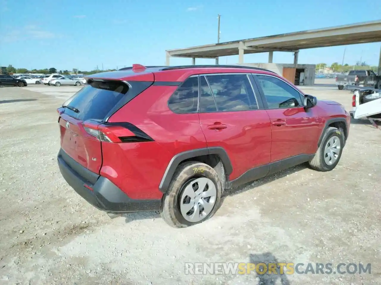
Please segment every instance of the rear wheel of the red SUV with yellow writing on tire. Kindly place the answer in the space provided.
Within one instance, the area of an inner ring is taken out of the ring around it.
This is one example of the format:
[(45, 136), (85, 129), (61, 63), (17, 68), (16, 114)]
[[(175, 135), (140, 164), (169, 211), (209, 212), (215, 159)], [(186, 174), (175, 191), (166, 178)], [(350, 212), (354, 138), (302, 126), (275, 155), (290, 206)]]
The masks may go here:
[[(198, 186), (202, 184), (205, 185), (205, 187), (198, 195)], [(202, 193), (207, 193), (209, 191), (211, 196), (203, 196)], [(192, 201), (190, 199), (191, 197), (187, 196), (187, 193), (194, 195), (192, 198), (196, 201)], [(182, 163), (173, 174), (168, 190), (162, 198), (160, 215), (168, 225), (174, 228), (185, 228), (187, 226), (202, 223), (211, 218), (218, 210), (221, 201), (221, 193), (221, 181), (219, 180), (217, 172), (213, 168), (198, 161)], [(193, 204), (198, 207), (197, 209), (200, 209), (199, 207), (203, 203), (207, 203), (205, 205), (209, 206), (208, 209), (204, 208), (202, 215), (196, 216), (195, 220), (192, 221), (191, 213), (192, 211), (194, 213), (194, 207), (189, 208), (190, 205), (188, 207), (186, 205)], [(181, 212), (182, 206), (184, 207)], [(188, 212), (185, 212), (187, 211), (186, 208), (189, 208)], [(184, 215), (187, 218), (185, 218)]]

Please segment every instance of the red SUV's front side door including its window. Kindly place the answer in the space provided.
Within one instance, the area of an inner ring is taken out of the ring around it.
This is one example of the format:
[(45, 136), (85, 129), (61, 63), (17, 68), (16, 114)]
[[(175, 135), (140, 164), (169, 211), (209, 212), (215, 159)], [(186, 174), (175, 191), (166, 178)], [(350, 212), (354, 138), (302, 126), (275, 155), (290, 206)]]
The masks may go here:
[(321, 118), (316, 108), (304, 109), (303, 95), (275, 76), (254, 76), (271, 120), (271, 162), (314, 154)]

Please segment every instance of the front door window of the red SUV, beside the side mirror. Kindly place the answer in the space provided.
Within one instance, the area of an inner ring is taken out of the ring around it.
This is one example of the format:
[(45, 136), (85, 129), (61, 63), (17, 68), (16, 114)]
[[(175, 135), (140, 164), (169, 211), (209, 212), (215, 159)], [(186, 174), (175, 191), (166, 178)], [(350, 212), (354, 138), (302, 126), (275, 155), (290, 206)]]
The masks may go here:
[(256, 75), (262, 87), (269, 109), (303, 106), (301, 94), (286, 82), (264, 75)]

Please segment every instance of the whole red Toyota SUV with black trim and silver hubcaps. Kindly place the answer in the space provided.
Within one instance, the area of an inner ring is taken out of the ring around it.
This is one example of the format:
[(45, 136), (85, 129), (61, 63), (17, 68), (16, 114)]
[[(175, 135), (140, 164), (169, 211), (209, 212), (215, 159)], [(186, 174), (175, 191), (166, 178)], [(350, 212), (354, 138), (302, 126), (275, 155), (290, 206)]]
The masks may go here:
[(309, 162), (330, 171), (350, 116), (269, 70), (144, 67), (89, 76), (58, 109), (62, 176), (109, 214), (210, 218), (224, 189)]

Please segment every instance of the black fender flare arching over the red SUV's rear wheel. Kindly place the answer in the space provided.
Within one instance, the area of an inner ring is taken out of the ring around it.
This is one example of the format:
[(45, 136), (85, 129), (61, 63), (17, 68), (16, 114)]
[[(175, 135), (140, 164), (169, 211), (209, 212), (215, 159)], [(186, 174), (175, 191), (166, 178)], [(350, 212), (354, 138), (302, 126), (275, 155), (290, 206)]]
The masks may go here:
[(219, 156), (219, 158), (221, 159), (221, 162), (224, 165), (226, 175), (230, 175), (232, 173), (233, 171), (232, 163), (230, 161), (229, 156), (226, 153), (226, 150), (223, 147), (205, 147), (202, 149), (187, 150), (184, 152), (180, 152), (179, 154), (176, 154), (168, 163), (168, 166), (165, 169), (163, 178), (159, 184), (159, 190), (163, 193), (166, 192), (166, 190), (169, 187), (169, 184), (171, 183), (173, 174), (176, 171), (177, 166), (182, 161), (192, 157), (197, 157), (201, 155), (209, 155), (209, 154), (216, 154)]

